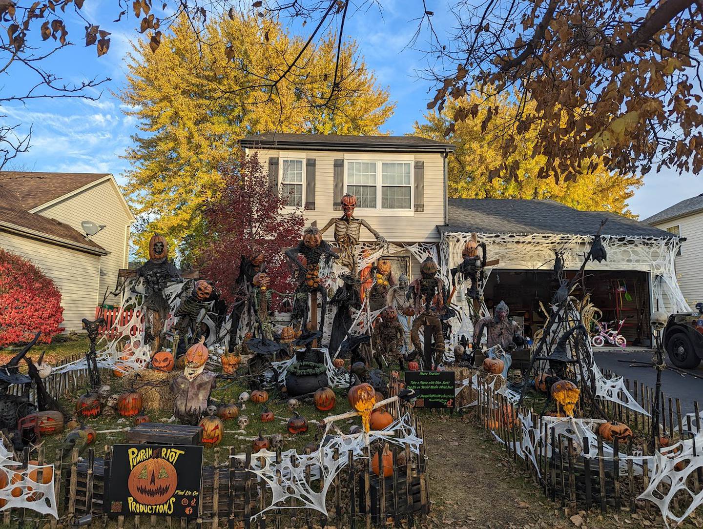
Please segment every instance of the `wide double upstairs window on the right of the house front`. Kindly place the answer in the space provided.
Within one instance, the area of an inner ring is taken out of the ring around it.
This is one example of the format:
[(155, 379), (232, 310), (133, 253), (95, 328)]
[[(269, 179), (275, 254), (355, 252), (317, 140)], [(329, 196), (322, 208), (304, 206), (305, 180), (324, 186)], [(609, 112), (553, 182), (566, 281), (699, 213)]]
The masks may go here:
[(412, 180), (411, 162), (347, 161), (347, 192), (358, 208), (411, 209)]

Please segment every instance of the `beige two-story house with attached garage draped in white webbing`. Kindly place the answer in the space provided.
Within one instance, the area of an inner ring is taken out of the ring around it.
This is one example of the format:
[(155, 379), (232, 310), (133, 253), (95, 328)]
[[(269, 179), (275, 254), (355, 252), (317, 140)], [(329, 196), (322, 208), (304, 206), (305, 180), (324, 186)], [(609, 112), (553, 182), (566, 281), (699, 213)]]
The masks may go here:
[[(552, 200), (448, 199), (446, 156), (455, 149), (450, 143), (415, 136), (264, 133), (243, 138), (241, 145), (258, 154), (269, 183), (290, 206), (304, 209), (307, 225), (325, 226), (342, 215), (342, 195), (356, 195), (355, 215), (393, 243), (384, 258), (392, 260), (396, 273), (418, 277), (420, 261), (433, 255), (441, 257), (451, 280), (449, 270), (461, 261), (470, 233), (477, 232), (489, 259), (501, 259), (490, 270), (486, 303), (490, 308), (505, 299), (531, 332), (543, 320), (540, 302), (548, 306), (556, 288), (555, 252), (563, 252), (567, 276), (573, 275), (604, 218), (608, 259), (586, 266), (586, 289), (604, 318), (626, 318), (628, 340), (647, 344), (651, 311), (685, 306), (672, 266), (680, 246), (675, 234)], [(374, 240), (363, 228), (361, 235), (362, 241)], [(332, 228), (325, 239), (333, 239)], [(458, 288), (453, 301), (466, 307), (464, 292)]]

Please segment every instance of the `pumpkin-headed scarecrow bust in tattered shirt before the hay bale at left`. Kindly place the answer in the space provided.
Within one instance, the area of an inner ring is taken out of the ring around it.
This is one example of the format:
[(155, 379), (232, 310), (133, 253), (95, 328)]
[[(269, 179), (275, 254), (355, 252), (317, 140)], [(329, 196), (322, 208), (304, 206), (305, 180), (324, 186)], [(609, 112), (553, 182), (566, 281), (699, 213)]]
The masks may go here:
[(186, 352), (186, 367), (183, 374), (171, 383), (174, 392), (174, 415), (182, 424), (195, 426), (207, 410), (207, 401), (215, 386), (215, 374), (205, 370), (208, 351), (200, 339)]

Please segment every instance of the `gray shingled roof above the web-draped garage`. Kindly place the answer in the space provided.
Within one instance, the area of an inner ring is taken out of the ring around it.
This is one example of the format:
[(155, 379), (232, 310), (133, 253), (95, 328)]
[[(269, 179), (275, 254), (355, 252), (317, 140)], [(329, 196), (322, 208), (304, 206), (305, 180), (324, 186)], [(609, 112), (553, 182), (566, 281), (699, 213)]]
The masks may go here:
[(439, 230), (451, 233), (554, 233), (593, 235), (600, 222), (608, 221), (603, 235), (630, 237), (672, 237), (671, 233), (608, 211), (580, 211), (553, 200), (514, 200), (494, 198), (449, 199), (449, 226)]

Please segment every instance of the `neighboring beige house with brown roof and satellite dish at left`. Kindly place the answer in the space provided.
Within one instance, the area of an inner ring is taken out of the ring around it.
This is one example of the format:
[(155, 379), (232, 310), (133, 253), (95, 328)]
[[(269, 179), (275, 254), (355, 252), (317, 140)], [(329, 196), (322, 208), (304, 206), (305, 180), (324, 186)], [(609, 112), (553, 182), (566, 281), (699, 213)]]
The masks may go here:
[[(0, 247), (30, 259), (61, 291), (63, 326), (82, 329), (127, 268), (135, 220), (111, 174), (0, 171)], [(105, 228), (86, 237), (82, 221)], [(120, 303), (108, 296), (106, 303)]]

